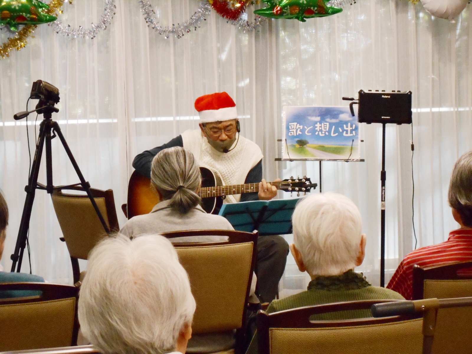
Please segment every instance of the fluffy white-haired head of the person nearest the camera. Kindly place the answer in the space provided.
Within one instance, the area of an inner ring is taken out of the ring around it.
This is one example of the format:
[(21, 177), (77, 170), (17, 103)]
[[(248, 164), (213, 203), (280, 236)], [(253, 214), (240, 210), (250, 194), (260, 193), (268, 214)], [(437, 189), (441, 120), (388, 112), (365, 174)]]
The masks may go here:
[(78, 318), (102, 354), (185, 353), (194, 312), (187, 273), (165, 237), (118, 234), (91, 251)]

